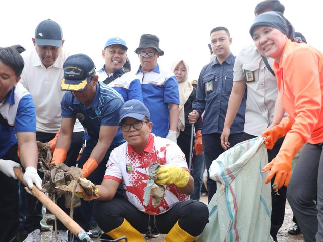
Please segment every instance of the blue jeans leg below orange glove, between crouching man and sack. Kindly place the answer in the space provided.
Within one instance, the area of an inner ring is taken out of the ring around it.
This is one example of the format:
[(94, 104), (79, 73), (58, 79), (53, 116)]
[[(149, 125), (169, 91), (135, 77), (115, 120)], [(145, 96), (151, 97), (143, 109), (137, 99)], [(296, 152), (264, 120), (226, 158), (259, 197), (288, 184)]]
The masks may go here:
[(204, 152), (200, 155), (196, 155), (194, 151), (192, 163), (193, 167), (191, 173), (194, 178), (194, 192), (191, 195), (191, 199), (199, 201), (201, 197), (203, 174), (205, 169)]

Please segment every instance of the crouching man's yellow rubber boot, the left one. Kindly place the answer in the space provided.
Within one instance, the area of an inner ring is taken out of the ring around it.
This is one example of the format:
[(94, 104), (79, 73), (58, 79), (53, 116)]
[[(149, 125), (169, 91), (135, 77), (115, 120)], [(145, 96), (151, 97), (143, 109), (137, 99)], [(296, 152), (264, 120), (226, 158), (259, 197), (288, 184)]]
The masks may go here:
[(123, 223), (118, 228), (115, 228), (110, 232), (107, 232), (106, 234), (112, 237), (113, 239), (117, 239), (120, 237), (127, 237), (128, 241), (131, 241), (131, 242), (146, 241), (145, 238), (142, 236), (142, 234), (139, 233), (139, 231), (136, 230), (134, 227), (132, 227), (131, 224), (126, 219), (123, 220)]

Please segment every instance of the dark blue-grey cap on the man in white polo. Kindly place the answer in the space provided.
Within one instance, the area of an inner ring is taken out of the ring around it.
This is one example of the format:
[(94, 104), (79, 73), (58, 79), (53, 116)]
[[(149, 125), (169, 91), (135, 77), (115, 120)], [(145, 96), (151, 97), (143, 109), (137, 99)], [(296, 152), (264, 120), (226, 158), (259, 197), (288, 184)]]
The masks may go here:
[(35, 30), (36, 44), (62, 47), (63, 33), (61, 26), (51, 19), (46, 19), (38, 24)]

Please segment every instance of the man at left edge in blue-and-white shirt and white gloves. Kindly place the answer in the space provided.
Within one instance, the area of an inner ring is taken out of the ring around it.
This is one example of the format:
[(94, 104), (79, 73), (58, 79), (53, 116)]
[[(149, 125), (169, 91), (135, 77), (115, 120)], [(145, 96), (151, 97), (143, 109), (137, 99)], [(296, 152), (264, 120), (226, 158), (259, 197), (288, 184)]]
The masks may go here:
[(4, 242), (12, 241), (19, 225), (18, 181), (13, 169), (20, 167), (20, 161), (28, 187), (32, 189), (35, 183), (42, 190), (36, 169), (36, 109), (30, 93), (19, 83), (23, 68), (16, 50), (0, 48), (0, 241)]

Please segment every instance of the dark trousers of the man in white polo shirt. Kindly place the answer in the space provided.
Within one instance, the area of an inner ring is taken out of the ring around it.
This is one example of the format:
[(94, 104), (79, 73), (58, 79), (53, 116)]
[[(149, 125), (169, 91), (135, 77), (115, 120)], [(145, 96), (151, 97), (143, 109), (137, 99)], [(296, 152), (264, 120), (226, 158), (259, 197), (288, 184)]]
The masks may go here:
[[(64, 164), (69, 166), (76, 165), (76, 160), (83, 144), (83, 135), (84, 135), (84, 132), (73, 133), (71, 146), (67, 153), (66, 161), (64, 162)], [(36, 132), (36, 139), (43, 143), (50, 141), (54, 137), (55, 137), (55, 134)], [(40, 168), (40, 165), (38, 164), (38, 169), (39, 168)], [(40, 178), (43, 178), (44, 173), (38, 171), (38, 175), (40, 176)], [(70, 210), (68, 208), (65, 208), (64, 206), (65, 199), (63, 197), (57, 200), (57, 205), (64, 212), (69, 214)], [(42, 204), (37, 201), (38, 199), (36, 197), (31, 196), (29, 193), (27, 193), (26, 222), (25, 222), (25, 228), (27, 233), (30, 233), (35, 229), (41, 229), (40, 220), (42, 219), (42, 214), (41, 214)], [(65, 230), (66, 227), (59, 220), (57, 220), (57, 229)]]

